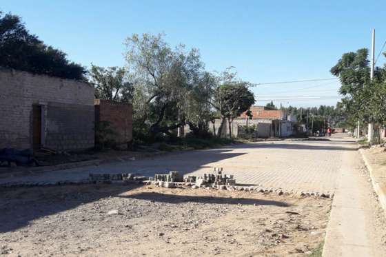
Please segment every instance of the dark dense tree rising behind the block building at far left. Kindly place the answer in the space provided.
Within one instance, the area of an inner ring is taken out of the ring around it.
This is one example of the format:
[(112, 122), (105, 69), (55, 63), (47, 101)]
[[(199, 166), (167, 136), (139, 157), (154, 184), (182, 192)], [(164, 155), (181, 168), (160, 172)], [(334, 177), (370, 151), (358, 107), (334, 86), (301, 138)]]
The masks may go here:
[(21, 18), (0, 12), (0, 66), (64, 79), (84, 79), (83, 66), (30, 34)]

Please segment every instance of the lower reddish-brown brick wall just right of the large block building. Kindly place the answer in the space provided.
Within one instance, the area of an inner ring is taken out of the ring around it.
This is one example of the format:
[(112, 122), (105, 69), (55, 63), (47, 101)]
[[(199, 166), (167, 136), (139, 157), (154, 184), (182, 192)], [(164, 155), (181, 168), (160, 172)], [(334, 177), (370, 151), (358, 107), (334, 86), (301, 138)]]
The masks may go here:
[(116, 146), (127, 149), (132, 141), (132, 105), (95, 99), (95, 122), (110, 122)]

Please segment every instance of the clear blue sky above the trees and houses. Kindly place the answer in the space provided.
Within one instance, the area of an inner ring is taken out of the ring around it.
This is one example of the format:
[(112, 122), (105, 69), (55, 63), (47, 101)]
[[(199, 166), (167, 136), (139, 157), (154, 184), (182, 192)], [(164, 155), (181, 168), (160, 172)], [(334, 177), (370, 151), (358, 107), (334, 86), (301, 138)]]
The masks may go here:
[[(199, 48), (206, 69), (235, 66), (252, 83), (330, 78), (344, 52), (386, 41), (386, 2), (373, 1), (26, 1), (2, 0), (30, 32), (83, 65), (125, 65), (133, 33), (165, 33), (171, 45)], [(381, 57), (378, 65), (383, 65)], [(337, 81), (260, 85), (257, 104), (335, 105)], [(309, 99), (310, 96), (326, 96)], [(307, 99), (308, 97), (308, 99)]]

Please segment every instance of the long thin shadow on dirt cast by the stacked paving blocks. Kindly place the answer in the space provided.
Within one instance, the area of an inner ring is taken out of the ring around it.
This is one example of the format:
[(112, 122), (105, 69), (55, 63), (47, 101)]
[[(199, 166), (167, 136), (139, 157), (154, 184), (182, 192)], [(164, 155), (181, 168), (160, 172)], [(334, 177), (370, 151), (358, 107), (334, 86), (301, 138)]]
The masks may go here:
[(161, 194), (156, 192), (143, 192), (130, 196), (117, 196), (121, 198), (135, 198), (138, 200), (156, 201), (162, 203), (209, 203), (209, 204), (226, 204), (226, 205), (274, 205), (278, 207), (289, 207), (290, 205), (280, 201), (270, 201), (253, 198), (230, 198), (214, 196), (178, 196), (174, 194)]

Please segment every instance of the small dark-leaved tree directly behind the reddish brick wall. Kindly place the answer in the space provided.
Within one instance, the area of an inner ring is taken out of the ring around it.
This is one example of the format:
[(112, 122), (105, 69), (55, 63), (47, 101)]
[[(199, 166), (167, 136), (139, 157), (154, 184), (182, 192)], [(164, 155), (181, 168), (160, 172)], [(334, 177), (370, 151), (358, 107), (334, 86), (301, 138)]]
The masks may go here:
[(101, 68), (91, 65), (90, 81), (95, 87), (95, 98), (118, 102), (131, 102), (133, 83), (125, 68)]

